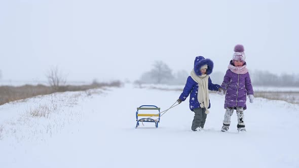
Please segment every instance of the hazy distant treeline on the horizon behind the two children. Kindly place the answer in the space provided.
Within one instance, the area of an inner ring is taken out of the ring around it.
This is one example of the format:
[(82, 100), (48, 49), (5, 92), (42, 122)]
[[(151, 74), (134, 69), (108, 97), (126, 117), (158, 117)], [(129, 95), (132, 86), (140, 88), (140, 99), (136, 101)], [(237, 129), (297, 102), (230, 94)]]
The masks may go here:
[[(268, 71), (249, 71), (252, 85), (273, 87), (299, 87), (299, 74), (277, 75)], [(156, 61), (153, 69), (144, 72), (135, 83), (152, 83), (167, 85), (184, 85), (190, 75), (185, 70), (173, 72), (167, 64)], [(210, 76), (213, 83), (221, 85), (225, 72), (213, 72)]]

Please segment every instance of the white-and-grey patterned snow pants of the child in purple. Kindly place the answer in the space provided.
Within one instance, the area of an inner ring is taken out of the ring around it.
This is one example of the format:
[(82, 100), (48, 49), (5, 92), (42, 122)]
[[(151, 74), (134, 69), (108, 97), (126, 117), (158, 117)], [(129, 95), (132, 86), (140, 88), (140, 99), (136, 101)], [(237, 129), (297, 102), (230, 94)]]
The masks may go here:
[[(237, 117), (238, 117), (238, 125), (237, 128), (245, 127), (244, 123), (244, 108), (243, 107), (236, 107)], [(223, 125), (230, 126), (231, 124), (231, 117), (234, 112), (234, 107), (228, 107), (225, 113), (225, 118), (223, 119)]]

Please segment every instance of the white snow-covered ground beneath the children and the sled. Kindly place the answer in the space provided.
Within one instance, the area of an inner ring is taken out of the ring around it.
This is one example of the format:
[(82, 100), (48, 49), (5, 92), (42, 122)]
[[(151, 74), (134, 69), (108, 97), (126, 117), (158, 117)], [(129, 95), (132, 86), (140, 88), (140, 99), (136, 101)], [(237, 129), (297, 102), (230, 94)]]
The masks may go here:
[[(136, 107), (164, 111), (180, 91), (122, 88), (39, 96), (0, 106), (1, 167), (299, 167), (299, 105), (256, 98), (246, 133), (220, 128), (224, 97), (211, 93), (205, 131), (191, 131), (185, 101), (159, 128), (135, 129)], [(39, 113), (40, 112), (40, 113)]]

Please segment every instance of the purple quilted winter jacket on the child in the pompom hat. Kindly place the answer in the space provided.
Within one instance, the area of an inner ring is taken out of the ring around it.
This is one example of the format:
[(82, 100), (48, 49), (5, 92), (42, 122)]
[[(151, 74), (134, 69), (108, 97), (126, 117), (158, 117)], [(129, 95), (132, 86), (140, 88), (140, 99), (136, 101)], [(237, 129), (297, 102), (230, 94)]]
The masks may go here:
[(246, 68), (246, 62), (242, 67), (242, 71), (235, 70), (235, 68), (231, 61), (221, 85), (226, 90), (224, 108), (244, 107), (244, 110), (246, 110), (246, 95), (253, 95), (251, 79)]

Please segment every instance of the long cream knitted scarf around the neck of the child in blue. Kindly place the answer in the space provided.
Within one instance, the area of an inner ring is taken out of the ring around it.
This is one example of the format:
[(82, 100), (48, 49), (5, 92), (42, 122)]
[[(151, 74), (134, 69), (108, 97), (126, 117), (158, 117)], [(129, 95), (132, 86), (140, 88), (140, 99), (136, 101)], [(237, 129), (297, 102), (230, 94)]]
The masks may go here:
[(198, 76), (195, 73), (194, 69), (192, 69), (191, 77), (194, 81), (198, 83), (197, 100), (199, 103), (204, 105), (204, 108), (206, 108), (205, 113), (208, 114), (209, 113), (208, 107), (210, 105), (209, 90), (208, 90), (209, 75), (203, 74), (201, 76)]

